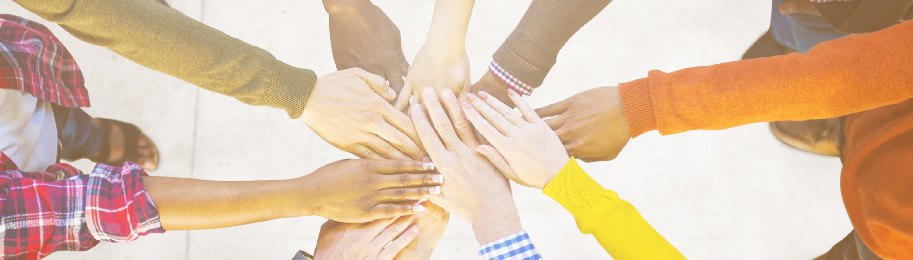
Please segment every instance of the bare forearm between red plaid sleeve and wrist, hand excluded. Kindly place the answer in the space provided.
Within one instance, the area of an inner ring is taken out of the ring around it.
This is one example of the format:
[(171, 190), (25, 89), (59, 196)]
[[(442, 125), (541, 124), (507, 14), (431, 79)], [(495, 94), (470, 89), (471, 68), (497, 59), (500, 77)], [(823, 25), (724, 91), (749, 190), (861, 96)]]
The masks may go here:
[(165, 230), (196, 230), (309, 215), (299, 179), (220, 182), (146, 176)]

